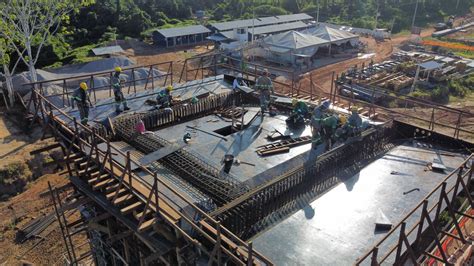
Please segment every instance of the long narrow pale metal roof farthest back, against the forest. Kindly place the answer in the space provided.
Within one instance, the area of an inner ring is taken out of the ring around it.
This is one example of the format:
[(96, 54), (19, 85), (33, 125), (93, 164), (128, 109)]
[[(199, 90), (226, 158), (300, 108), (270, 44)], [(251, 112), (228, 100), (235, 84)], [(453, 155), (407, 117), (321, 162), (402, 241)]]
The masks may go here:
[(237, 28), (246, 28), (246, 27), (258, 27), (258, 26), (266, 26), (266, 25), (273, 25), (279, 23), (287, 23), (287, 22), (294, 22), (294, 21), (301, 21), (301, 20), (308, 20), (313, 19), (312, 16), (306, 13), (300, 14), (291, 14), (291, 15), (283, 15), (283, 16), (274, 16), (274, 17), (263, 17), (263, 18), (256, 18), (253, 19), (244, 19), (244, 20), (233, 20), (227, 22), (220, 22), (220, 23), (212, 23), (211, 26), (216, 28), (218, 31), (227, 31)]

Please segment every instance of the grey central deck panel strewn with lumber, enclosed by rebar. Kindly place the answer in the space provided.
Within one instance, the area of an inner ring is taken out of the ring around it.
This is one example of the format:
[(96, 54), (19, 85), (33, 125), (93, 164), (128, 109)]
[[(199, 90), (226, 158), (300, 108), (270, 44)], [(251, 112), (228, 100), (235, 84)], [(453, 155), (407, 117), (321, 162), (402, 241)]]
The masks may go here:
[[(259, 108), (253, 108), (255, 110), (250, 109), (250, 111), (259, 110)], [(306, 144), (292, 148), (289, 153), (267, 157), (260, 157), (255, 152), (257, 147), (269, 143), (266, 136), (275, 129), (293, 137), (311, 135), (309, 126), (299, 131), (287, 129), (286, 118), (283, 115), (275, 117), (265, 115), (263, 118), (261, 115), (258, 115), (243, 131), (227, 136), (222, 135), (227, 141), (188, 127), (191, 126), (208, 132), (215, 132), (231, 125), (230, 119), (221, 118), (217, 115), (209, 115), (173, 127), (164, 128), (156, 131), (156, 134), (170, 142), (179, 142), (184, 134), (190, 133), (192, 138), (185, 149), (194, 154), (199, 154), (202, 159), (218, 169), (223, 167), (221, 160), (226, 154), (232, 154), (236, 159), (255, 164), (255, 166), (248, 164), (234, 165), (231, 168), (231, 175), (243, 182), (311, 149), (311, 144)]]

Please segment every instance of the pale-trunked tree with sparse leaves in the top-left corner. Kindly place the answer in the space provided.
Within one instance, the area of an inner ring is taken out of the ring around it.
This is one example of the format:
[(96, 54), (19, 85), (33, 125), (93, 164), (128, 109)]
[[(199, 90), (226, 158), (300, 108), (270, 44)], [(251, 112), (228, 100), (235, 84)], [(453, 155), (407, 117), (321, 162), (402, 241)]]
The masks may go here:
[[(55, 34), (68, 14), (85, 0), (5, 0), (0, 3), (0, 37), (6, 40), (38, 81), (35, 64), (48, 37)], [(36, 45), (36, 51), (33, 46)], [(22, 51), (25, 51), (24, 53)]]

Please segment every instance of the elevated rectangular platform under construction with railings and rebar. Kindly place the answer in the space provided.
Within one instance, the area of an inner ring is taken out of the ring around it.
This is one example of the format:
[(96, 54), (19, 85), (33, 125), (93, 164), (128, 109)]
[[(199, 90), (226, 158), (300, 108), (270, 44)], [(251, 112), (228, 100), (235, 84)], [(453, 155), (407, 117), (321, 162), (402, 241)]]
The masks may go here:
[[(60, 149), (69, 173), (70, 184), (50, 193), (70, 264), (454, 264), (470, 254), (474, 132), (461, 122), (474, 114), (409, 97), (392, 110), (293, 75), (275, 81), (285, 93), (270, 116), (254, 93), (232, 91), (235, 73), (252, 84), (260, 66), (243, 71), (224, 58), (186, 60), (181, 73), (172, 62), (141, 67), (150, 75), (127, 81), (131, 110), (121, 114), (112, 86), (94, 86), (110, 72), (25, 85), (32, 122), (56, 141), (43, 150)], [(71, 98), (83, 81), (94, 103), (88, 126)], [(150, 105), (170, 84), (179, 101)], [(367, 126), (314, 146), (309, 127), (285, 123), (292, 98), (329, 100), (341, 116), (357, 106)], [(446, 114), (458, 122), (443, 122)]]

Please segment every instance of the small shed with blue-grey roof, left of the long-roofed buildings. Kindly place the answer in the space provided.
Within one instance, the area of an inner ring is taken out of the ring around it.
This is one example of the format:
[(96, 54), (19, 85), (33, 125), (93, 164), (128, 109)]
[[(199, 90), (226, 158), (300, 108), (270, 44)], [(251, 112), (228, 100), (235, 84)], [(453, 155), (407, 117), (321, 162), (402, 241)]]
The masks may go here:
[(153, 31), (153, 42), (160, 47), (194, 45), (207, 41), (211, 31), (202, 25)]

